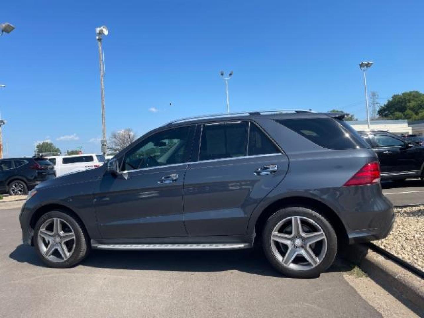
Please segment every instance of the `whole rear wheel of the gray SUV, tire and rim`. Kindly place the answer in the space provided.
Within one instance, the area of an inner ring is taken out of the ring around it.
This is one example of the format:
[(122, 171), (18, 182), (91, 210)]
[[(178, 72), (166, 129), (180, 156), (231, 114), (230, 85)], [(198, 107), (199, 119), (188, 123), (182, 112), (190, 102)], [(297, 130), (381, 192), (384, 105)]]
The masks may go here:
[(316, 277), (334, 261), (337, 237), (330, 223), (304, 207), (286, 207), (265, 224), (262, 246), (266, 257), (281, 273)]

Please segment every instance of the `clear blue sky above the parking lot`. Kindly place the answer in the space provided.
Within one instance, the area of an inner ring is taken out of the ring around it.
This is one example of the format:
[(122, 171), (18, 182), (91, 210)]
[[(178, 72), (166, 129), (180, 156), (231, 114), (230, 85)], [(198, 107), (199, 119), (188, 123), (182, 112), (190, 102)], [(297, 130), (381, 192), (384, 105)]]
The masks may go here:
[[(144, 134), (169, 120), (231, 111), (333, 108), (364, 118), (360, 61), (380, 102), (423, 90), (423, 1), (8, 1), (0, 22), (6, 155), (50, 139), (99, 152), (95, 27), (107, 25), (106, 127)], [(169, 106), (169, 103), (172, 106)], [(157, 112), (149, 111), (155, 108)]]

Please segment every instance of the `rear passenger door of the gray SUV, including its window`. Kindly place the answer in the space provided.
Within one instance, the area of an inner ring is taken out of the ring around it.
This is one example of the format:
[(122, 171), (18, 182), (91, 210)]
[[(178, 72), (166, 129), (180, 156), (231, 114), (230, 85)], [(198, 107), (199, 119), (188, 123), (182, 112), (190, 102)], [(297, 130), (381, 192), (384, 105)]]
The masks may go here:
[(287, 156), (253, 122), (207, 123), (198, 140), (184, 180), (188, 235), (245, 234), (255, 206), (284, 178)]

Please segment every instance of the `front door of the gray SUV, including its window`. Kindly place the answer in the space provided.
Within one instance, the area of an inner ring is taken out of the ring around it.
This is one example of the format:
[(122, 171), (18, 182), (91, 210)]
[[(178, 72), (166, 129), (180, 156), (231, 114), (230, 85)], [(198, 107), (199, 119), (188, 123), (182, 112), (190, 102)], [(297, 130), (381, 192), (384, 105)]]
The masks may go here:
[(95, 193), (104, 239), (187, 235), (182, 196), (194, 130), (184, 126), (152, 134), (118, 158), (125, 173), (104, 174)]

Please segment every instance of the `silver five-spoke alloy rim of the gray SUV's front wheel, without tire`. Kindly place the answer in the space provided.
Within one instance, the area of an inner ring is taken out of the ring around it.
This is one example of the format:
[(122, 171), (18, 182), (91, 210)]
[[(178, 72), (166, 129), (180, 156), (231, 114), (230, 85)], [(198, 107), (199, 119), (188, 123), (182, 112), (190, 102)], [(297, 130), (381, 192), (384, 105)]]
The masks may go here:
[(38, 247), (43, 256), (52, 262), (64, 262), (75, 249), (75, 233), (61, 218), (45, 221), (38, 231)]

